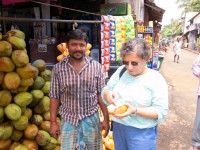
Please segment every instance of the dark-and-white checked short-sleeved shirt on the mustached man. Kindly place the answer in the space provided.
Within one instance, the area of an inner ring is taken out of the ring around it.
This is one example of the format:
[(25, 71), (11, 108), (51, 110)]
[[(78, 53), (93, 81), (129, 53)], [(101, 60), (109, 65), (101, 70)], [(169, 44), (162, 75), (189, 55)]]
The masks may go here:
[(103, 67), (86, 56), (84, 67), (77, 74), (69, 57), (53, 67), (49, 97), (60, 100), (62, 119), (77, 126), (79, 121), (98, 110), (97, 93), (105, 86)]

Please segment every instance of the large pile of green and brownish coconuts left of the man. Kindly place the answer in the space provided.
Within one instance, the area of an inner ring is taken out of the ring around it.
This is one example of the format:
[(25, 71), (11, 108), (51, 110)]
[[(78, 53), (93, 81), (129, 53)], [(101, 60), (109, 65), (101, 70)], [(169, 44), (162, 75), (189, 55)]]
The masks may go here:
[(60, 140), (49, 133), (51, 70), (41, 59), (29, 63), (22, 31), (10, 30), (2, 37), (0, 150), (60, 149)]

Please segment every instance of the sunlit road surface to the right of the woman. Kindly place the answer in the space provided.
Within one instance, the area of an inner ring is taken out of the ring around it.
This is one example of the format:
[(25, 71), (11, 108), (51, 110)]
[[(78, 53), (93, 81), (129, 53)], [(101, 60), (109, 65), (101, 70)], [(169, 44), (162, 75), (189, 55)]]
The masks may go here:
[(182, 50), (180, 63), (173, 62), (172, 48), (160, 72), (169, 86), (169, 113), (159, 125), (157, 150), (188, 150), (196, 111), (198, 79), (191, 66), (197, 54)]

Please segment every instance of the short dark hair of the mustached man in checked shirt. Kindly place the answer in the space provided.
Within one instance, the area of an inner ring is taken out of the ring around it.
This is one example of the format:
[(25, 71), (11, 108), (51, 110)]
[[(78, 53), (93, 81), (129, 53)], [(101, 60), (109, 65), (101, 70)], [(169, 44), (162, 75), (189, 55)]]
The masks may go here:
[(75, 29), (75, 30), (69, 31), (67, 33), (67, 37), (66, 37), (67, 43), (69, 43), (69, 41), (71, 39), (84, 40), (86, 43), (88, 43), (87, 34), (85, 32), (83, 32), (82, 30), (80, 30), (80, 29)]

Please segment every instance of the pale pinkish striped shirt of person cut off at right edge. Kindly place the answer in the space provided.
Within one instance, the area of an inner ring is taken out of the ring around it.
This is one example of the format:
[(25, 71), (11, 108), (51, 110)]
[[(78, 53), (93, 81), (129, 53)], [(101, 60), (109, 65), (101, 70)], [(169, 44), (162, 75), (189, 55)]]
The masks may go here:
[[(194, 60), (194, 63), (192, 65), (192, 72), (197, 78), (200, 79), (200, 55), (198, 55)], [(200, 96), (200, 81), (197, 93)]]

